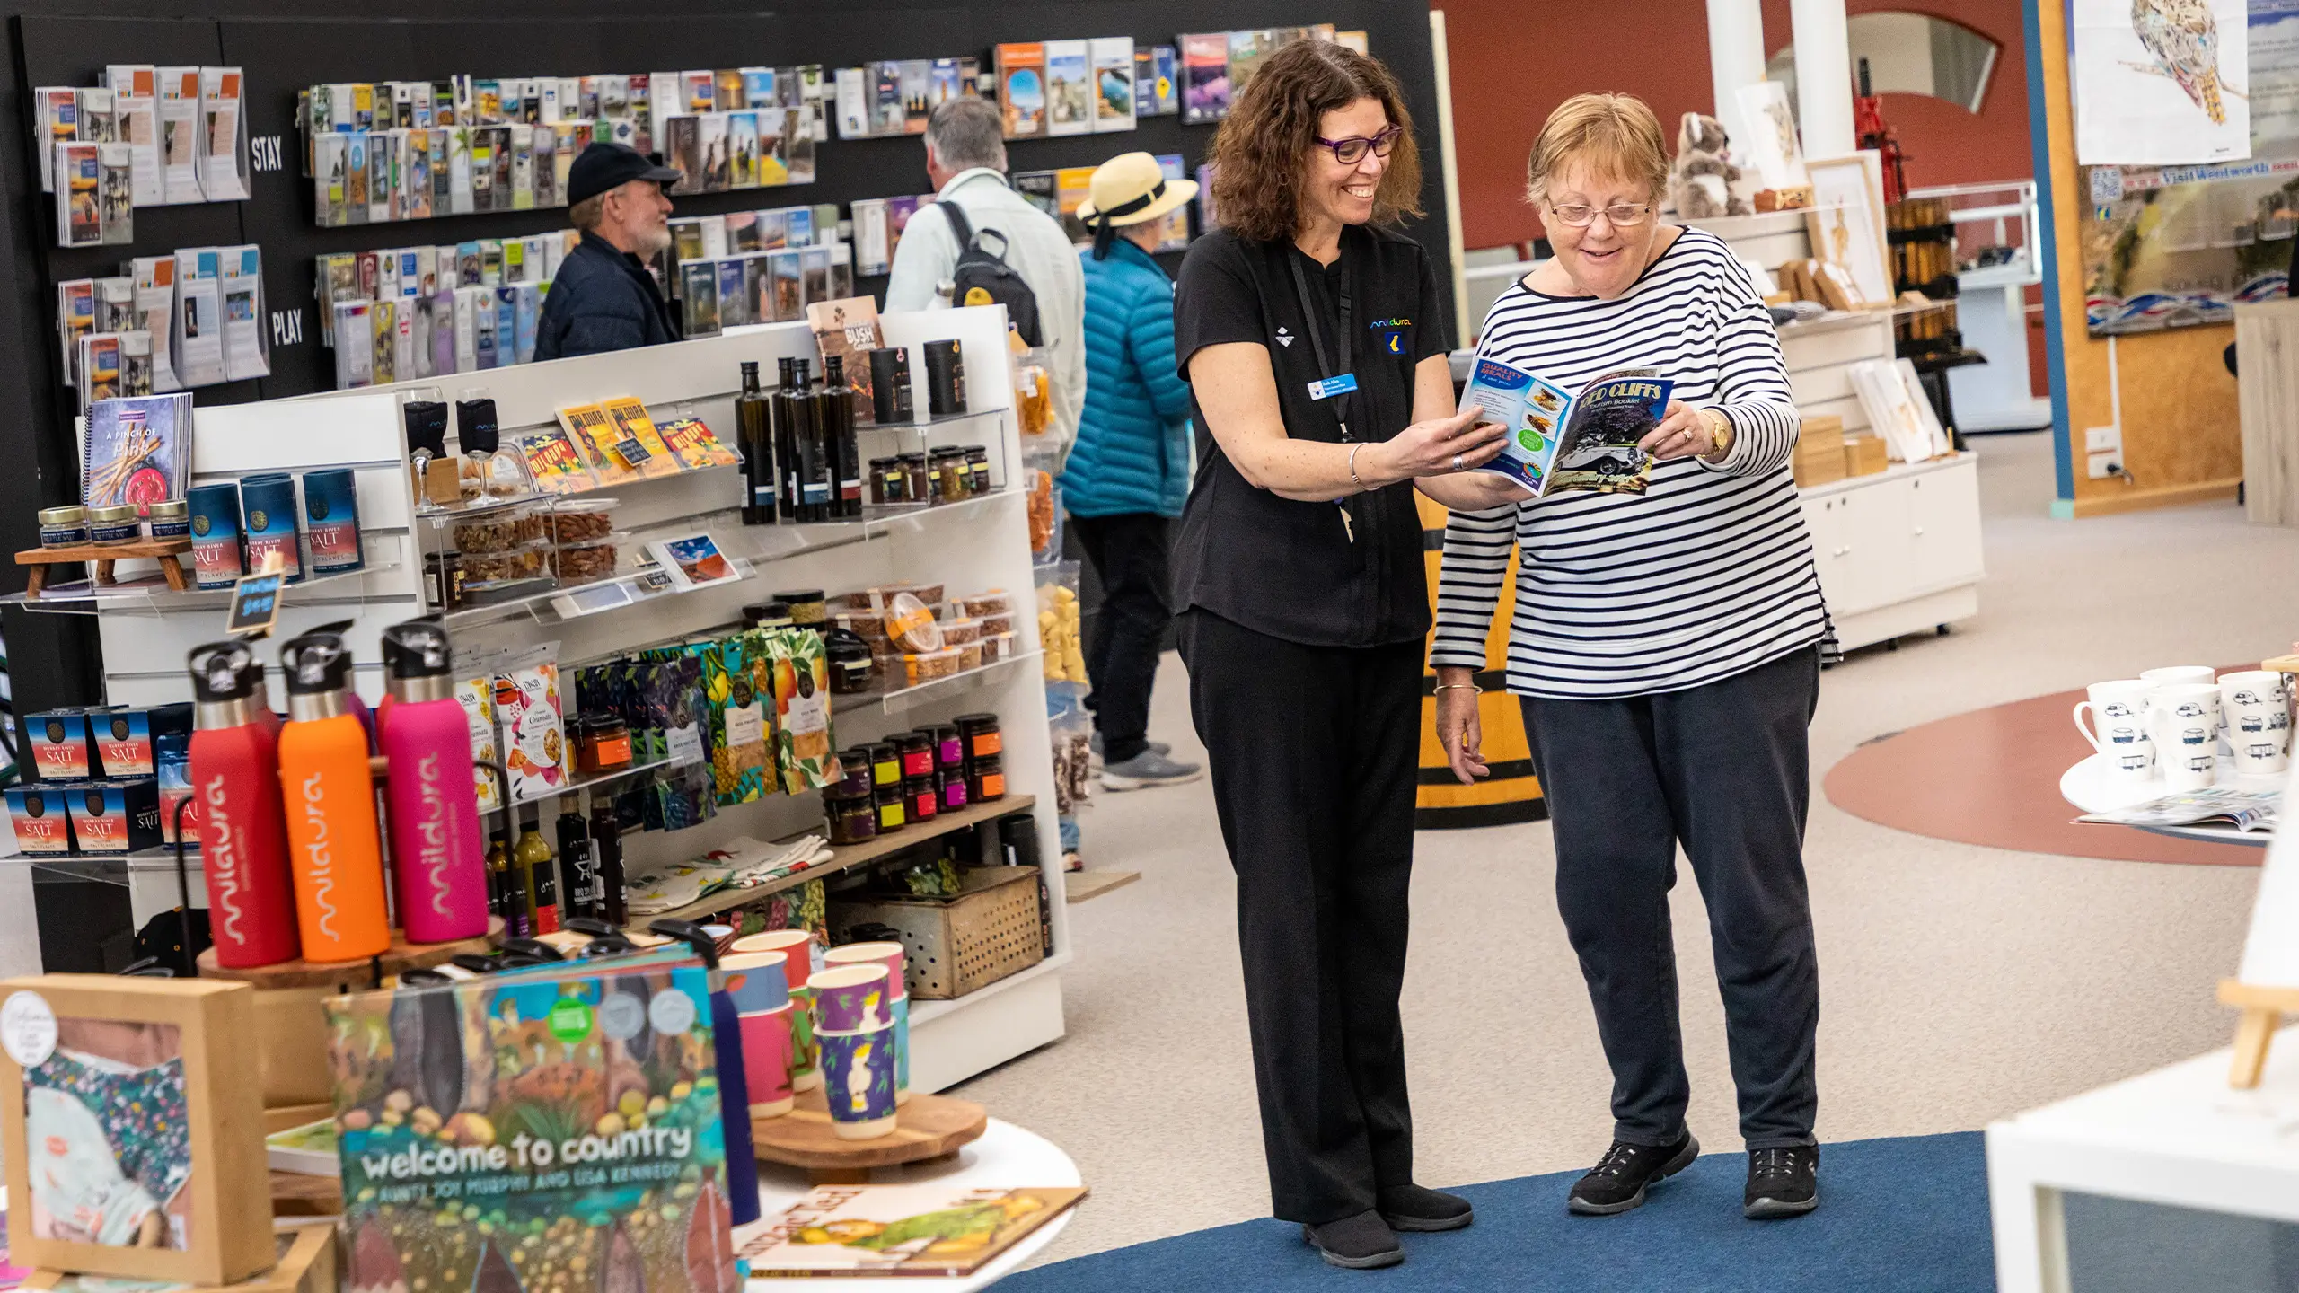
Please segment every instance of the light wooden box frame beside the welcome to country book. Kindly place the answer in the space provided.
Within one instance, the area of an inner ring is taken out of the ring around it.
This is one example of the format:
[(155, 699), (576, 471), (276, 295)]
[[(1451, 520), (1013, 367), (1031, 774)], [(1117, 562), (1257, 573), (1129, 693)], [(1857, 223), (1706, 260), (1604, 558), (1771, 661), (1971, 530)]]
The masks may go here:
[(278, 1258), (244, 982), (55, 973), (0, 982), (9, 1256), (41, 1270), (234, 1284)]

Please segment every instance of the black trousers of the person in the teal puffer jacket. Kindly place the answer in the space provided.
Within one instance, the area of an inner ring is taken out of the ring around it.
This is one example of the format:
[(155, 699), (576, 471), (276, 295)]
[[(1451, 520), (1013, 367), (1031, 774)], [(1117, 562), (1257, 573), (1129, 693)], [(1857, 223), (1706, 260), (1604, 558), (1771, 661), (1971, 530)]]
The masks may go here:
[(1085, 635), (1101, 762), (1122, 764), (1150, 743), (1150, 688), (1172, 623), (1168, 554), (1172, 522), (1154, 513), (1074, 515), (1069, 527), (1101, 577), (1101, 610)]

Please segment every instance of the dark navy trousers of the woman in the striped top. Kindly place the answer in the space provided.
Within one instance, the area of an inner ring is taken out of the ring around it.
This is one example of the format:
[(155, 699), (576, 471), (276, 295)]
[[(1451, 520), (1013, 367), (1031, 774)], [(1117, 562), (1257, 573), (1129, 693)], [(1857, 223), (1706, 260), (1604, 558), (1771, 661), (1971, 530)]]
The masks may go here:
[(1805, 893), (1819, 651), (1699, 688), (1524, 699), (1556, 837), (1556, 909), (1612, 1063), (1614, 1137), (1662, 1146), (1692, 1086), (1676, 1022), (1676, 844), (1708, 904), (1747, 1148), (1809, 1146), (1821, 971)]

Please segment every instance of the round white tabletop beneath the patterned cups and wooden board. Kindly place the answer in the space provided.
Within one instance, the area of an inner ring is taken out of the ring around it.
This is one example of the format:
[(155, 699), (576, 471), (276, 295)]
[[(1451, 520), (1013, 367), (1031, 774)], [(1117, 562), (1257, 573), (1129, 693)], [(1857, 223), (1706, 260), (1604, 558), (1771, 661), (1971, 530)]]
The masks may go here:
[[(952, 1189), (972, 1189), (984, 1185), (1085, 1185), (1078, 1178), (1078, 1164), (1069, 1162), (1069, 1155), (1053, 1141), (998, 1118), (991, 1118), (982, 1139), (961, 1148), (956, 1157), (871, 1169), (869, 1183), (949, 1185)], [(805, 1199), (807, 1189), (807, 1173), (802, 1169), (777, 1166), (772, 1162), (759, 1164), (759, 1212), (763, 1217), (777, 1217), (784, 1208)], [(837, 1293), (972, 1293), (975, 1288), (995, 1284), (998, 1279), (1012, 1275), (1021, 1263), (1037, 1256), (1039, 1249), (1053, 1242), (1053, 1235), (1062, 1233), (1062, 1226), (1067, 1226), (1074, 1215), (1076, 1208), (1030, 1231), (1018, 1245), (1000, 1254), (998, 1261), (963, 1279), (924, 1279), (915, 1275), (892, 1275), (885, 1279), (848, 1279), (844, 1275), (837, 1279), (756, 1277), (749, 1281), (749, 1291), (766, 1293), (770, 1288), (809, 1286), (837, 1288)], [(736, 1252), (743, 1252), (752, 1235), (756, 1235), (763, 1226), (766, 1222), (738, 1226), (733, 1233)]]

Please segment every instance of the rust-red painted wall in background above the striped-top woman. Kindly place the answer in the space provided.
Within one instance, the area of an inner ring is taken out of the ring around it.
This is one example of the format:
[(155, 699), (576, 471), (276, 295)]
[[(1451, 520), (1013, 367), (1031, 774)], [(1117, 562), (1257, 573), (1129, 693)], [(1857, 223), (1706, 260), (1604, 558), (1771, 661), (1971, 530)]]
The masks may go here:
[[(1524, 152), (1550, 108), (1566, 97), (1586, 90), (1637, 94), (1671, 131), (1683, 113), (1713, 108), (1708, 9), (1701, 0), (1639, 0), (1635, 21), (1625, 21), (1621, 7), (1561, 0), (1430, 0), (1430, 7), (1446, 16), (1467, 246), (1499, 246), (1540, 232), (1520, 198)], [(1908, 154), (1910, 184), (2035, 175), (2019, 0), (1848, 0), (1846, 7), (1853, 14), (1915, 9), (1963, 23), (2002, 46), (1979, 115), (1929, 94), (1883, 97), (1885, 120)], [(1791, 41), (1789, 0), (1766, 0), (1763, 32), (1768, 48)], [(1674, 136), (1669, 143), (1674, 147)]]

